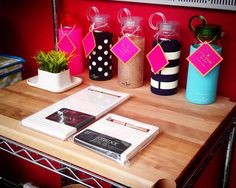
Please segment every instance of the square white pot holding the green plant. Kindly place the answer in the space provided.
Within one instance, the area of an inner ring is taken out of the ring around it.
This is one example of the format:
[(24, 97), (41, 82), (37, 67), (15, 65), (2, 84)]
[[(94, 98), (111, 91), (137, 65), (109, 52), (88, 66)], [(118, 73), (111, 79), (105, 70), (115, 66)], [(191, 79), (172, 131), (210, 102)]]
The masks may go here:
[(38, 84), (43, 88), (59, 90), (71, 84), (70, 71), (51, 73), (38, 69)]

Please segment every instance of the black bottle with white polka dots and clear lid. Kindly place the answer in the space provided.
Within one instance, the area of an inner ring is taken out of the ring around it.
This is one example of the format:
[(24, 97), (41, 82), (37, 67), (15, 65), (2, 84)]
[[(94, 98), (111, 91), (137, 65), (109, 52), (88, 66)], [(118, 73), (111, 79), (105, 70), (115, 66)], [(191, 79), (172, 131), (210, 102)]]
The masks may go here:
[(88, 56), (89, 77), (92, 80), (109, 80), (112, 78), (112, 47), (113, 33), (110, 28), (109, 15), (96, 14), (91, 16), (91, 27), (96, 47)]

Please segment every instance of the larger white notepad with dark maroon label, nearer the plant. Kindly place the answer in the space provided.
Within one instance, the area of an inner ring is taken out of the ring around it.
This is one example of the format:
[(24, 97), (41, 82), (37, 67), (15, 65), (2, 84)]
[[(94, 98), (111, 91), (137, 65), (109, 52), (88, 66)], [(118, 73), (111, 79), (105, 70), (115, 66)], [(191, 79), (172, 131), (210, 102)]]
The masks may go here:
[(23, 119), (30, 129), (65, 140), (129, 98), (129, 94), (89, 86)]

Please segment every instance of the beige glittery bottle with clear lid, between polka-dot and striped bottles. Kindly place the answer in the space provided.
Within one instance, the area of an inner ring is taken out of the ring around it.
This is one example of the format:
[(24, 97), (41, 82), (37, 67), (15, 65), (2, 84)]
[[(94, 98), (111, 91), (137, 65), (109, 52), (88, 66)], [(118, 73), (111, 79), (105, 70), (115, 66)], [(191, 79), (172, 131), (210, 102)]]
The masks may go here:
[(118, 81), (125, 88), (138, 88), (143, 85), (145, 37), (142, 30), (142, 17), (128, 16), (121, 20), (120, 38), (129, 37), (140, 49), (128, 62), (118, 59)]

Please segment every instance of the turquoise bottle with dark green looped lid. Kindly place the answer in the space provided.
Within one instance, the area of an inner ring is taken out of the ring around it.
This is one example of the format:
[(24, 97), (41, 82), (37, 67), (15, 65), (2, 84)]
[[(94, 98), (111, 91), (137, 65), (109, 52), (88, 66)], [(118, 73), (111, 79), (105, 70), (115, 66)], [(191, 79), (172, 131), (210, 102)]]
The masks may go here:
[[(194, 18), (199, 18), (202, 21), (202, 23), (197, 25), (195, 28), (192, 27), (192, 21)], [(207, 24), (203, 16), (193, 16), (189, 20), (189, 27), (190, 30), (195, 33), (195, 40), (190, 46), (190, 54), (192, 54), (203, 42), (208, 42), (216, 52), (221, 55), (220, 25)], [(220, 65), (218, 64), (207, 75), (202, 76), (200, 72), (189, 63), (186, 99), (195, 104), (211, 104), (215, 102), (219, 70)]]

